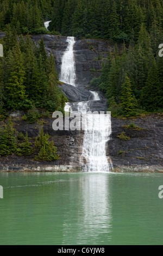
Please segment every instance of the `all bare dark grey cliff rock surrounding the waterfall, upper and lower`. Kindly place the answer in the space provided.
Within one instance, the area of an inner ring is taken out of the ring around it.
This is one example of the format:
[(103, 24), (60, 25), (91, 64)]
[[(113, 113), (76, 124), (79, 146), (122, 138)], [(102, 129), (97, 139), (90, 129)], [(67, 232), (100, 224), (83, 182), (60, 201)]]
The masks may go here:
[[(4, 33), (0, 33), (0, 38)], [(48, 54), (52, 52), (58, 74), (60, 74), (61, 59), (66, 50), (66, 36), (32, 35), (36, 43), (43, 38)], [(119, 50), (121, 46), (118, 46)], [(61, 86), (64, 94), (71, 102), (91, 100), (91, 93), (86, 90), (93, 76), (99, 76), (102, 58), (106, 58), (108, 51), (114, 46), (106, 40), (83, 39), (76, 41), (74, 54), (76, 58), (76, 75), (78, 88), (64, 84)], [(106, 111), (107, 102), (102, 93), (99, 93), (101, 101), (90, 101), (92, 111)], [(23, 114), (23, 113), (22, 113)], [(106, 155), (110, 157), (116, 171), (163, 171), (162, 162), (162, 132), (163, 115), (153, 114), (136, 119), (111, 118), (112, 133), (106, 145)], [(59, 161), (36, 162), (29, 157), (9, 156), (1, 157), (0, 170), (80, 170), (80, 155), (82, 154), (83, 131), (54, 131), (52, 118), (45, 118), (44, 131), (53, 137), (58, 153)], [(140, 129), (127, 129), (124, 127), (134, 121)], [(14, 118), (15, 128), (28, 132), (29, 137), (37, 135), (37, 124), (27, 124), (20, 117)], [(122, 132), (129, 137), (127, 141), (118, 138)], [(57, 167), (59, 166), (59, 167)], [(65, 167), (67, 166), (67, 167)], [(65, 169), (66, 168), (66, 169)]]

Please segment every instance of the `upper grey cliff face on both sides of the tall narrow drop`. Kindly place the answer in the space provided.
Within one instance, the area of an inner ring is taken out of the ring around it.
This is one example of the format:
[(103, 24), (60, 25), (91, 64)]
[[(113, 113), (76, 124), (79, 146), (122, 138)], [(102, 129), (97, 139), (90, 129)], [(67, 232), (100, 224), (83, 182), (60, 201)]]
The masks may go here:
[[(32, 35), (36, 43), (43, 38), (46, 50), (55, 56), (55, 63), (58, 74), (60, 74), (62, 56), (68, 43), (66, 36), (57, 35)], [(122, 46), (118, 45), (120, 50)], [(74, 45), (74, 56), (76, 58), (76, 76), (78, 87), (86, 87), (92, 76), (99, 76), (103, 59), (106, 59), (109, 51), (114, 50), (107, 40), (83, 39), (77, 40)]]

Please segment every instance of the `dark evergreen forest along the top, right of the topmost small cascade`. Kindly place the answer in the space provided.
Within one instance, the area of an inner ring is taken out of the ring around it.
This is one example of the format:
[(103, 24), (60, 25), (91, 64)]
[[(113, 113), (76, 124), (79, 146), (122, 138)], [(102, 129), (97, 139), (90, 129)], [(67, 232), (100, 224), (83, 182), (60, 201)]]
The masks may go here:
[(136, 40), (141, 23), (147, 31), (163, 28), (162, 0), (55, 0), (49, 29), (78, 38)]

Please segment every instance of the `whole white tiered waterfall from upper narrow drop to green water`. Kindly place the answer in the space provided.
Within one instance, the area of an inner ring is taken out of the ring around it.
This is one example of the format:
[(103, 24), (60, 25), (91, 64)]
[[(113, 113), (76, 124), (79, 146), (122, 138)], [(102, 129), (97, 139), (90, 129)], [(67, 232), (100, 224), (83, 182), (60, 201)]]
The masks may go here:
[[(73, 54), (74, 38), (67, 37), (68, 46), (62, 58), (60, 81), (76, 86), (76, 70)], [(92, 101), (100, 100), (97, 92), (92, 92)], [(109, 172), (112, 163), (106, 156), (106, 142), (111, 135), (111, 116), (109, 114), (88, 114), (90, 101), (66, 103), (65, 111), (72, 111), (76, 107), (82, 114), (85, 124), (82, 155), (80, 164), (85, 172)]]

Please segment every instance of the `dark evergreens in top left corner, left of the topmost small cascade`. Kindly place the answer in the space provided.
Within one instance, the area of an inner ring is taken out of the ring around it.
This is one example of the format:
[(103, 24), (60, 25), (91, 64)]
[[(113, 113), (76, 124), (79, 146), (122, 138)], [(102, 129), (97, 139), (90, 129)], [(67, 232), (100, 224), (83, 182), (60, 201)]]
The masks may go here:
[[(51, 19), (54, 0), (0, 0), (0, 31), (14, 26), (18, 34), (37, 32), (45, 20)], [(39, 30), (41, 31), (41, 30)]]

